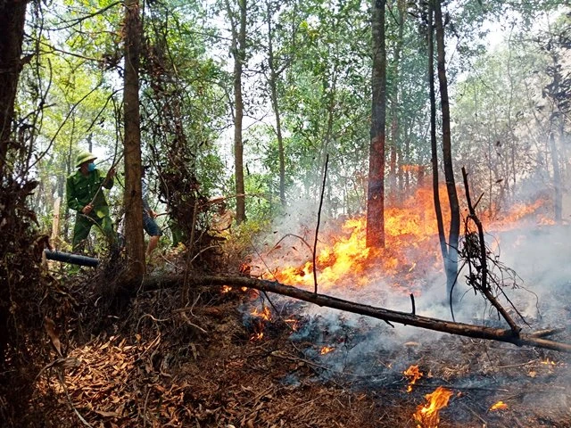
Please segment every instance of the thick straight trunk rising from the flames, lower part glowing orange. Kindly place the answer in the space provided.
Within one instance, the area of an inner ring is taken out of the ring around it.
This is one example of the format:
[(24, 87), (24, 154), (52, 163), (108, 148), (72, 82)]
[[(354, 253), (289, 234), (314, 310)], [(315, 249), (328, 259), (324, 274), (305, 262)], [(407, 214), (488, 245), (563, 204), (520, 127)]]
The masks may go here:
[(373, 0), (373, 100), (367, 193), (367, 246), (380, 248), (385, 247), (385, 3), (385, 0)]

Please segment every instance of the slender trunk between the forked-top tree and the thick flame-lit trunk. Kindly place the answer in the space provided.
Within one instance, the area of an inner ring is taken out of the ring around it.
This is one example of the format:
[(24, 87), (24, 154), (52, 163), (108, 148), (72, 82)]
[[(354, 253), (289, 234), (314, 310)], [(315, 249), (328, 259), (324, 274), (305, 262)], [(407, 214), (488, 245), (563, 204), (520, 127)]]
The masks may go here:
[(271, 27), (271, 7), (270, 2), (267, 2), (268, 6), (268, 65), (269, 65), (269, 90), (271, 96), (271, 105), (274, 109), (274, 115), (276, 116), (276, 136), (277, 136), (277, 155), (279, 157), (279, 202), (282, 204), (282, 208), (285, 209), (285, 153), (284, 153), (284, 137), (282, 136), (282, 123), (281, 116), (279, 112), (279, 104), (277, 103), (277, 70), (276, 62), (274, 59), (274, 44), (273, 44), (273, 34)]

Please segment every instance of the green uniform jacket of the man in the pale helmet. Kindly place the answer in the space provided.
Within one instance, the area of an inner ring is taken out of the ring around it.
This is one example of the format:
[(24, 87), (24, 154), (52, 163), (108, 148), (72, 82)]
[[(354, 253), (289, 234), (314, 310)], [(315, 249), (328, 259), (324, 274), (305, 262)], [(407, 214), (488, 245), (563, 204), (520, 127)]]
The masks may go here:
[(106, 175), (99, 169), (94, 169), (87, 174), (87, 177), (81, 174), (79, 170), (71, 174), (66, 182), (68, 207), (71, 210), (81, 212), (87, 204), (93, 201), (94, 209), (92, 213), (95, 214), (95, 217), (103, 218), (109, 216), (109, 205), (105, 200), (101, 187), (111, 189), (113, 179), (109, 178), (103, 185), (105, 177)]

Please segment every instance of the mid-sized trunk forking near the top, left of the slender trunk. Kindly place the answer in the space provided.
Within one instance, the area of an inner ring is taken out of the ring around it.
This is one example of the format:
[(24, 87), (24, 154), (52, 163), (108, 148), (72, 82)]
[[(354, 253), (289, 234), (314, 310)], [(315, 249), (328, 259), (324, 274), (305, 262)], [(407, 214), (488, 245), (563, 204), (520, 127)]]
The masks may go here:
[(242, 99), (242, 73), (246, 56), (246, 0), (238, 0), (239, 15), (236, 22), (234, 13), (226, 2), (228, 17), (232, 26), (232, 56), (234, 57), (234, 167), (236, 183), (236, 223), (246, 220), (244, 195), (244, 142), (242, 140), (242, 122), (244, 119), (244, 101)]

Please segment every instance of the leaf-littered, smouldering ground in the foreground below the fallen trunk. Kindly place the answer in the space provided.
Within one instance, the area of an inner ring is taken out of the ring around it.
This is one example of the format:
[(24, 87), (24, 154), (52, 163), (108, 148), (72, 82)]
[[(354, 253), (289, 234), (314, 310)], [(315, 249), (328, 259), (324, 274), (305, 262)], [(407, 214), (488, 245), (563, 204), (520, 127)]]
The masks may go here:
[[(95, 284), (70, 294), (80, 315), (37, 377), (29, 426), (412, 427), (438, 386), (452, 391), (441, 428), (571, 424), (566, 354), (420, 330), (403, 342), (411, 327), (275, 296), (262, 307), (252, 291), (197, 288), (187, 305), (145, 292), (115, 313), (97, 309)], [(252, 316), (263, 308), (270, 320)], [(410, 365), (423, 376), (407, 392)]]

